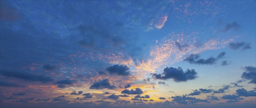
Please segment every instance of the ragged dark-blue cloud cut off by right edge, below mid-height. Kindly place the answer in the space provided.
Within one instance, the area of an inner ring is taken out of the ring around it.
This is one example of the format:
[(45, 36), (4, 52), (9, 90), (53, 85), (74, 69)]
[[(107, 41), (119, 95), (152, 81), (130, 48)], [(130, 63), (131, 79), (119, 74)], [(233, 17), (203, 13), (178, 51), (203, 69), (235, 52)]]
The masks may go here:
[(244, 72), (241, 77), (246, 80), (251, 80), (249, 83), (256, 84), (256, 67), (246, 66), (243, 69), (246, 72)]

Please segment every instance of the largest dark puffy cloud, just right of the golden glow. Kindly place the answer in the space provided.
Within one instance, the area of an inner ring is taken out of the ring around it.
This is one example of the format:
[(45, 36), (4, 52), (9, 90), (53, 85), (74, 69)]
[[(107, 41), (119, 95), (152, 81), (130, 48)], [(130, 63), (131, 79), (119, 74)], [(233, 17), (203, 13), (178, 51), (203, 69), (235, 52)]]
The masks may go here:
[(197, 78), (197, 72), (194, 69), (187, 69), (185, 72), (181, 67), (166, 67), (162, 74), (151, 74), (155, 79), (167, 80), (173, 79), (175, 82), (194, 80)]

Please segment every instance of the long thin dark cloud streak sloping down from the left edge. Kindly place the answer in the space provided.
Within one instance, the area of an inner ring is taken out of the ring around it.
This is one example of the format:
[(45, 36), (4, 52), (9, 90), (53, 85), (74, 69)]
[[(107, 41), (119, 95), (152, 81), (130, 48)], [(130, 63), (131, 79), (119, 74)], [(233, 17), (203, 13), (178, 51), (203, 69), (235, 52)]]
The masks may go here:
[(6, 77), (14, 77), (22, 80), (28, 81), (41, 81), (41, 82), (49, 82), (53, 81), (51, 77), (43, 76), (43, 75), (34, 75), (23, 71), (7, 71), (1, 70), (0, 71), (2, 76)]

